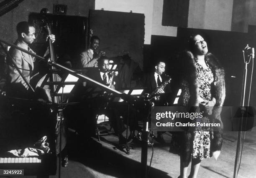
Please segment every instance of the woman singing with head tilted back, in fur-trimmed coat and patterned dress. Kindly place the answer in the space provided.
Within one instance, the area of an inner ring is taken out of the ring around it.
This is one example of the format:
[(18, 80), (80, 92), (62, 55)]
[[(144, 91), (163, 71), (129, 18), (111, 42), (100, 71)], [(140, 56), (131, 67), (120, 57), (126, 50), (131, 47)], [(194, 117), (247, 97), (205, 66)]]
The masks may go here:
[(220, 154), (221, 128), (223, 127), (220, 111), (225, 99), (224, 69), (220, 67), (218, 60), (208, 53), (207, 43), (201, 35), (193, 35), (189, 38), (189, 50), (184, 53), (182, 60), (184, 71), (179, 104), (186, 108), (198, 106), (200, 112), (204, 111), (202, 118), (204, 123), (220, 123), (221, 125), (218, 128), (197, 126), (192, 132), (178, 133), (179, 178), (187, 178), (187, 169), (191, 160), (188, 178), (196, 178), (201, 160), (210, 158), (212, 155), (217, 159)]

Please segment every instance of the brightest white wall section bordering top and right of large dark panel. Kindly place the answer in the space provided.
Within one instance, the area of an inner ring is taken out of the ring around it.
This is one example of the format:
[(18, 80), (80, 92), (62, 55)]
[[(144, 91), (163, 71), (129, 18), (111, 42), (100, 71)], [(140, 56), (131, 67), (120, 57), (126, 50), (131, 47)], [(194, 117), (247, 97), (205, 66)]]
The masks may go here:
[(144, 44), (151, 43), (152, 16), (154, 0), (95, 0), (95, 10), (142, 13), (145, 15)]

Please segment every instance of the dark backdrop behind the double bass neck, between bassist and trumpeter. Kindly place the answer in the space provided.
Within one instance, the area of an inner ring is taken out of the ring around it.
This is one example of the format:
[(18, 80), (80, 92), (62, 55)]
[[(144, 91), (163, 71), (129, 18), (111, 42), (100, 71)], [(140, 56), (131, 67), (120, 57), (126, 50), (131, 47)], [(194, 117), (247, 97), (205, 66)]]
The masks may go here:
[(36, 41), (32, 44), (33, 49), (38, 54), (43, 55), (45, 48), (41, 47), (46, 43), (47, 31), (42, 30), (41, 19), (47, 19), (51, 25), (52, 34), (56, 36), (54, 42), (56, 55), (60, 57), (60, 60), (69, 60), (75, 67), (78, 54), (87, 48), (87, 18), (69, 15), (30, 14), (29, 21), (33, 21), (37, 32)]

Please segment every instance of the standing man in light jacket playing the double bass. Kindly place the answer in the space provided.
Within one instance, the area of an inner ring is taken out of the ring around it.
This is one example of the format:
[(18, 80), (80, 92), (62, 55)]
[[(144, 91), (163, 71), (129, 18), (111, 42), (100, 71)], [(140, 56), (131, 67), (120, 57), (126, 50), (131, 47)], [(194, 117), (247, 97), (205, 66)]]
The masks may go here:
[[(25, 50), (28, 50), (34, 53), (33, 50), (31, 50), (29, 47), (29, 44), (33, 43), (34, 40), (36, 39), (36, 36), (35, 36), (36, 29), (33, 26), (33, 24), (30, 24), (26, 21), (20, 22), (18, 23), (16, 30), (18, 33), (18, 39), (14, 44), (20, 48), (23, 48)], [(52, 43), (54, 43), (55, 35), (47, 36), (46, 40), (48, 38), (50, 38)], [(48, 53), (49, 53), (49, 50), (46, 50), (46, 53), (44, 56), (46, 56)], [(31, 73), (34, 68), (33, 62), (35, 61), (35, 58), (13, 47), (10, 48), (9, 54), (11, 58), (7, 59), (8, 92), (10, 95), (26, 98), (29, 96), (29, 86), (25, 82), (25, 80), (21, 77), (20, 73), (18, 73), (18, 70), (20, 70), (20, 72), (24, 75), (24, 77), (29, 83), (31, 78)], [(17, 66), (18, 69), (14, 66), (14, 64)]]

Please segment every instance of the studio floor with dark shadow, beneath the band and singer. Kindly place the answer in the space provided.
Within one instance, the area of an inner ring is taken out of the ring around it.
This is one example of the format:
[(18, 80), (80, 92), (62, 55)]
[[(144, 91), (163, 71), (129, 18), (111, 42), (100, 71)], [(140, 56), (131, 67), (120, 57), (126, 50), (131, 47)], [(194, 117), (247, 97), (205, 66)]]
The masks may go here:
[[(118, 138), (113, 135), (92, 138), (86, 144), (77, 135), (70, 134), (69, 165), (61, 167), (61, 178), (137, 178), (141, 175), (141, 145), (134, 143), (130, 155), (113, 147)], [(223, 147), (218, 160), (202, 160), (198, 178), (233, 178), (237, 132), (223, 133)], [(179, 156), (169, 153), (171, 134), (164, 133), (166, 144), (154, 143), (154, 156), (149, 178), (177, 178)], [(152, 149), (148, 146), (148, 165)], [(256, 130), (246, 132), (238, 178), (256, 178)], [(33, 178), (35, 176), (26, 176)], [(57, 178), (51, 175), (50, 178)]]

